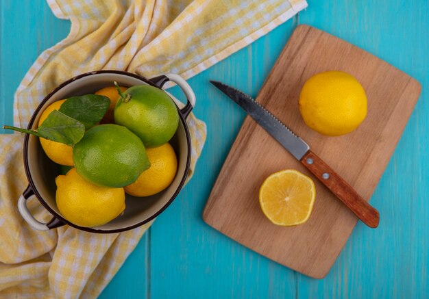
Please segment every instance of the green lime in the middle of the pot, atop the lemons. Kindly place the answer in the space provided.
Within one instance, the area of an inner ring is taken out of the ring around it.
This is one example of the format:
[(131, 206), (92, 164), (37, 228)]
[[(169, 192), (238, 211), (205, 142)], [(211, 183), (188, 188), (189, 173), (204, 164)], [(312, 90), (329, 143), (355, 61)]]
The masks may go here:
[(86, 131), (73, 148), (77, 173), (95, 185), (124, 187), (150, 167), (145, 146), (129, 129), (99, 125)]

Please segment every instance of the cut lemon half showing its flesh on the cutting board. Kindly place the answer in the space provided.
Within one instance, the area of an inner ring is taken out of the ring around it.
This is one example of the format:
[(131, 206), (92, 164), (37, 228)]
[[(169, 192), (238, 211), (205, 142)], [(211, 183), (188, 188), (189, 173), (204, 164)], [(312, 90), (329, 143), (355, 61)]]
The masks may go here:
[(312, 179), (297, 170), (282, 170), (262, 183), (259, 203), (273, 224), (293, 226), (308, 220), (315, 196)]

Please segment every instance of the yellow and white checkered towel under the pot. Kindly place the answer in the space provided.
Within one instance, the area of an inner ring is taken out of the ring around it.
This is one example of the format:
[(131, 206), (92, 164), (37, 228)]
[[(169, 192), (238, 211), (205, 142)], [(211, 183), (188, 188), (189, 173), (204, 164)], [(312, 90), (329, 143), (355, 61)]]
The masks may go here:
[[(16, 91), (19, 127), (27, 127), (38, 103), (70, 77), (115, 69), (189, 78), (306, 7), (305, 0), (47, 1), (53, 14), (71, 21), (71, 31), (38, 57)], [(188, 126), (193, 170), (206, 126), (193, 115)], [(0, 297), (97, 297), (150, 224), (106, 235), (70, 226), (35, 231), (16, 208), (27, 186), (23, 135), (0, 135), (0, 148)], [(28, 205), (39, 220), (50, 218), (37, 200)]]

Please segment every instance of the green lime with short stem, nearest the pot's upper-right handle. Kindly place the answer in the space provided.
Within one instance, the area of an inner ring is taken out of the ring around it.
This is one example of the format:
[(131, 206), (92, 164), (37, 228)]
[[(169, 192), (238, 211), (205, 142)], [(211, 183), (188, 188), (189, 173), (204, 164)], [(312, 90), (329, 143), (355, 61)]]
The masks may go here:
[(114, 108), (114, 122), (130, 129), (147, 147), (168, 142), (179, 125), (173, 100), (154, 86), (128, 88)]

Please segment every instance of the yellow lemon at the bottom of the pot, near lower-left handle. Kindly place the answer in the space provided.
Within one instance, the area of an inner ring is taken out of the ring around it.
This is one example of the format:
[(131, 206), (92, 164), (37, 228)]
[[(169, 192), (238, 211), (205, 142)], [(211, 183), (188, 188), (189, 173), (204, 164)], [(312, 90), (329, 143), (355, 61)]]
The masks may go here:
[(84, 227), (100, 226), (125, 209), (123, 188), (99, 187), (77, 174), (75, 168), (56, 177), (56, 202), (66, 220)]

